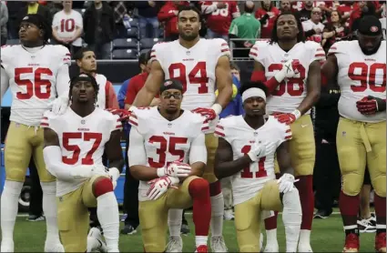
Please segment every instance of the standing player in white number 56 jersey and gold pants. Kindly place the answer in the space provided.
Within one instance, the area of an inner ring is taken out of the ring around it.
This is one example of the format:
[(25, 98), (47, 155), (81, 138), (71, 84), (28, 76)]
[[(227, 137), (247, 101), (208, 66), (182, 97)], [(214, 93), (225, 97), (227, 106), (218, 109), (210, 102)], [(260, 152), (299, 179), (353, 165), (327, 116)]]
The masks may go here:
[[(1, 96), (11, 88), (11, 124), (5, 140), (5, 187), (1, 197), (1, 252), (14, 252), (17, 201), (31, 156), (43, 190), (46, 252), (63, 252), (56, 226), (56, 178), (46, 170), (43, 129), (46, 110), (66, 108), (70, 53), (65, 46), (46, 45), (51, 25), (41, 15), (26, 15), (19, 29), (21, 45), (1, 50)], [(58, 96), (58, 98), (56, 98)]]

